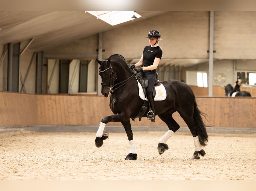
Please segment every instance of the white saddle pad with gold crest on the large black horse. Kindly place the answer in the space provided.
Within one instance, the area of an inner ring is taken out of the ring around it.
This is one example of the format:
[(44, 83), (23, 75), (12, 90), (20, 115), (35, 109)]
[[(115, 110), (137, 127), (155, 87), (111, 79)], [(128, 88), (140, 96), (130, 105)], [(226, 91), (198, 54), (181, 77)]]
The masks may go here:
[[(141, 84), (139, 83), (138, 80), (137, 80), (137, 82), (138, 82), (138, 86), (139, 86), (140, 98), (143, 99), (143, 100), (148, 100), (146, 98), (146, 95), (143, 92)], [(155, 92), (156, 92), (155, 97), (154, 97), (155, 101), (162, 101), (166, 98), (166, 90), (165, 90), (165, 88), (162, 84), (160, 84), (160, 86), (155, 86)]]

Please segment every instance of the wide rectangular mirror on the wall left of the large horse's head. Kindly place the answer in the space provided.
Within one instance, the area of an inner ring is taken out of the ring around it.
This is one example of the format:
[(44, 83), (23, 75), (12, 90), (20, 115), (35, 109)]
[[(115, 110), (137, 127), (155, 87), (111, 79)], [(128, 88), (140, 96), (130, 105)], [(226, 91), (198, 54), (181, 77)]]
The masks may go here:
[(49, 59), (48, 94), (96, 94), (96, 60)]

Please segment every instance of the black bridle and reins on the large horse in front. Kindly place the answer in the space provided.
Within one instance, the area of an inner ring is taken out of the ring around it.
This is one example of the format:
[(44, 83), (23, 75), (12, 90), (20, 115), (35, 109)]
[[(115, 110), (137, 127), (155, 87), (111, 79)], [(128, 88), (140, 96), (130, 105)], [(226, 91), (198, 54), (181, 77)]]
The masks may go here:
[[(102, 82), (101, 85), (102, 86), (109, 86), (109, 94), (110, 95), (112, 92), (114, 92), (115, 90), (117, 90), (118, 88), (122, 87), (123, 85), (125, 85), (129, 80), (131, 80), (134, 76), (136, 76), (138, 73), (135, 73), (133, 74), (132, 76), (130, 76), (129, 78), (125, 79), (124, 81), (122, 82), (119, 82), (117, 84), (114, 84), (114, 82), (116, 81), (117, 79), (117, 76), (115, 76), (114, 72), (113, 72), (113, 69), (112, 67), (109, 67), (105, 70), (100, 70), (99, 72), (103, 73), (107, 70), (111, 69), (111, 73), (110, 73), (110, 81), (108, 83), (106, 82)], [(114, 77), (115, 77), (115, 80), (114, 80)]]

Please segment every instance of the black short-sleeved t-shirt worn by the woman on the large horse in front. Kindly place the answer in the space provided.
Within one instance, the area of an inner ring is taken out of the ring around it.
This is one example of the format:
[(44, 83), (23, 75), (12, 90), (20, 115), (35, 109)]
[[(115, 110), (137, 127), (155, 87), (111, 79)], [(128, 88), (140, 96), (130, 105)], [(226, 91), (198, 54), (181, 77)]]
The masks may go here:
[[(155, 58), (160, 58), (162, 57), (163, 52), (159, 46), (157, 47), (151, 47), (145, 46), (143, 50), (143, 63), (142, 66), (150, 66), (153, 65)], [(155, 71), (155, 70), (153, 70)]]

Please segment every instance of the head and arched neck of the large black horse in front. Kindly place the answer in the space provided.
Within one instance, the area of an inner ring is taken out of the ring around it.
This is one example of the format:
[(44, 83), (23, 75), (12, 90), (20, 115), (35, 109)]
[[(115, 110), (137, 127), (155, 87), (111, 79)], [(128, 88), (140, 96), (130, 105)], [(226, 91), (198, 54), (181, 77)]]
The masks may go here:
[(114, 54), (103, 61), (96, 60), (100, 65), (99, 75), (102, 80), (101, 94), (105, 97), (109, 96), (115, 84), (122, 82), (132, 75), (127, 62), (121, 55)]

